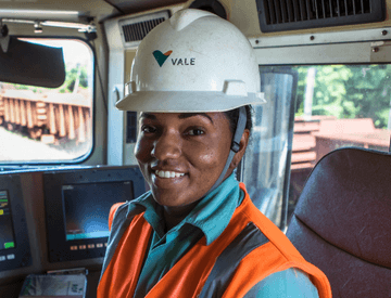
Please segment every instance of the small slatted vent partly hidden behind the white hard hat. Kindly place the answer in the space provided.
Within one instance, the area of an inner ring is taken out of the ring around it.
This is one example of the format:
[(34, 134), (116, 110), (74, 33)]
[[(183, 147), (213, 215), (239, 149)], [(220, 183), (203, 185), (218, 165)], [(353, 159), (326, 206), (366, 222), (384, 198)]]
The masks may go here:
[(121, 36), (125, 48), (136, 48), (140, 41), (160, 23), (169, 18), (168, 11), (141, 15), (118, 21)]

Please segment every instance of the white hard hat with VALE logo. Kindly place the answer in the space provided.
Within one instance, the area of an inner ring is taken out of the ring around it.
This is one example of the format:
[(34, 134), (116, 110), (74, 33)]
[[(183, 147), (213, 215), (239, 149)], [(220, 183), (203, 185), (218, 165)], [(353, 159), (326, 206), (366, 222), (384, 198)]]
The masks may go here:
[(175, 13), (141, 41), (128, 90), (116, 107), (224, 112), (264, 102), (258, 65), (245, 36), (213, 13), (189, 9)]

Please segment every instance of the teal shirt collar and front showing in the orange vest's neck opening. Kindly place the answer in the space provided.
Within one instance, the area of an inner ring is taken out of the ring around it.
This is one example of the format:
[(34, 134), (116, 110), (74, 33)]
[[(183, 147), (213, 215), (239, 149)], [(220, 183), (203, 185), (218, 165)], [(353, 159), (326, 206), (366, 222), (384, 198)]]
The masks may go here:
[(150, 248), (134, 297), (144, 297), (203, 235), (206, 245), (215, 241), (226, 229), (243, 198), (239, 182), (235, 174), (231, 174), (202, 198), (194, 209), (166, 234), (162, 207), (154, 202), (152, 194), (147, 193), (134, 200), (128, 213), (131, 216), (146, 210), (143, 217), (153, 229)]

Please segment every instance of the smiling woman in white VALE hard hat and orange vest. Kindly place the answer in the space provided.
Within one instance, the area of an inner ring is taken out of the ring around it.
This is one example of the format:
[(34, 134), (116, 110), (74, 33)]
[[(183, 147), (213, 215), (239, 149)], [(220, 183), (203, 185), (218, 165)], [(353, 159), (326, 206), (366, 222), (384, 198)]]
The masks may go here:
[(264, 102), (245, 37), (180, 11), (141, 42), (130, 77), (117, 107), (141, 112), (135, 154), (151, 191), (113, 209), (98, 297), (331, 297), (235, 179), (249, 105)]

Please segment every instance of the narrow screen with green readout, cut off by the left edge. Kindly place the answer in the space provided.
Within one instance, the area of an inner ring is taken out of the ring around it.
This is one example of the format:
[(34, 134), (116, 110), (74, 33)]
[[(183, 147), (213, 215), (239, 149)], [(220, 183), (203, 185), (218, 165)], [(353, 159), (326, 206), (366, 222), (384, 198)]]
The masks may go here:
[(7, 191), (0, 191), (0, 250), (15, 248), (11, 206)]

